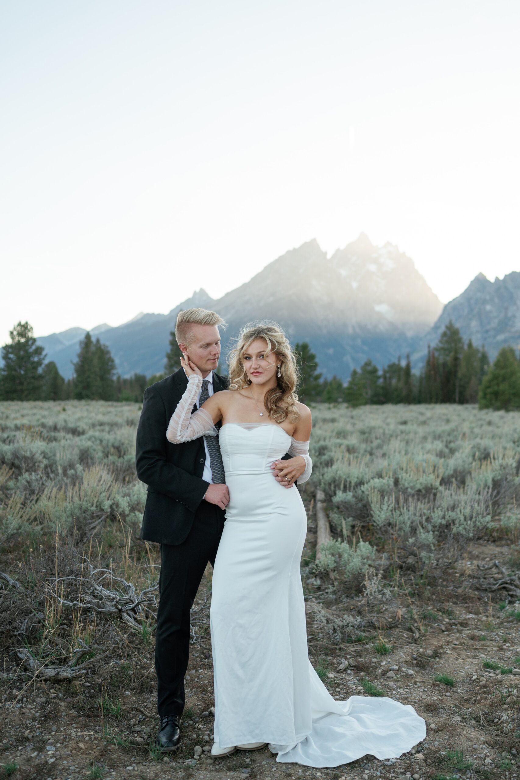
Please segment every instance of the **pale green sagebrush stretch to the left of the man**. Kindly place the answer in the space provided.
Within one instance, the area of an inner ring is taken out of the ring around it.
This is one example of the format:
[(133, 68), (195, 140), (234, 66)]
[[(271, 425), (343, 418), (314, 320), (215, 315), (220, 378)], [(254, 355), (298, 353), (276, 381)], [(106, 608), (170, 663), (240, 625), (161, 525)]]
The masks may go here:
[(0, 544), (14, 537), (87, 534), (102, 523), (136, 530), (138, 404), (0, 404)]

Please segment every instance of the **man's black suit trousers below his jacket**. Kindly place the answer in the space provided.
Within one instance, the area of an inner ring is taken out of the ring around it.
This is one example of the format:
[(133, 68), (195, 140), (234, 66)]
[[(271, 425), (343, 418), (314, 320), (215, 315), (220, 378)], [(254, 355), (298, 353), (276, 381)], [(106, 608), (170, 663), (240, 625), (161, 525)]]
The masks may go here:
[(214, 566), (224, 520), (222, 509), (202, 501), (182, 544), (161, 544), (155, 633), (157, 710), (161, 718), (169, 714), (180, 716), (184, 709), (184, 675), (189, 660), (189, 611), (207, 563)]

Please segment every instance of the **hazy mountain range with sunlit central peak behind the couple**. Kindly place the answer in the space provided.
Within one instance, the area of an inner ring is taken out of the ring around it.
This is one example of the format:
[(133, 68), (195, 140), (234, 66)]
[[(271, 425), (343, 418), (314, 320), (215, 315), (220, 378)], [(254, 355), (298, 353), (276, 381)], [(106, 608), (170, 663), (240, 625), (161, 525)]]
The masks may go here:
[[(122, 376), (150, 376), (164, 370), (177, 314), (195, 306), (224, 317), (226, 351), (247, 322), (274, 320), (293, 344), (310, 343), (325, 376), (343, 379), (369, 357), (382, 365), (419, 349), (442, 310), (410, 257), (391, 243), (374, 246), (361, 233), (331, 257), (316, 239), (288, 250), (218, 300), (199, 289), (168, 314), (140, 313), (116, 328), (101, 324), (90, 333), (108, 345)], [(86, 332), (69, 328), (37, 339), (65, 378), (73, 375)]]

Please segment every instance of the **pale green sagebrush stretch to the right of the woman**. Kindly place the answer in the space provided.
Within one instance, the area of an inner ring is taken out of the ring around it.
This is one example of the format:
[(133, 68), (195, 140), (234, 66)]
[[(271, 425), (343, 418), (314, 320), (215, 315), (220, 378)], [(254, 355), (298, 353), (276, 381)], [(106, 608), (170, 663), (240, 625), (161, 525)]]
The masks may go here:
[[(313, 419), (313, 480), (341, 541), (355, 527), (423, 569), (455, 561), (501, 519), (518, 538), (519, 413), (443, 404), (338, 406), (333, 416), (318, 406)], [(344, 569), (338, 550), (322, 569), (333, 559)]]

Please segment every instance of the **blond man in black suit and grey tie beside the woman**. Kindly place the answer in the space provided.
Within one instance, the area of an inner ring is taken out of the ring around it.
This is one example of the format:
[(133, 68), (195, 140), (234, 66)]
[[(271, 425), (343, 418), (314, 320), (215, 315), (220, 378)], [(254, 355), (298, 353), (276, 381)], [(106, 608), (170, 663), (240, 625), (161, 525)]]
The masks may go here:
[[(221, 353), (218, 326), (223, 324), (218, 314), (205, 309), (188, 309), (177, 317), (179, 349), (203, 376), (193, 410), (214, 392), (228, 388), (228, 380), (215, 371)], [(137, 476), (148, 486), (140, 537), (161, 545), (155, 671), (161, 720), (157, 739), (162, 750), (179, 746), (189, 660), (189, 611), (207, 563), (214, 565), (229, 502), (218, 437), (185, 444), (172, 444), (166, 438), (170, 417), (187, 384), (179, 368), (147, 388), (136, 440)]]

